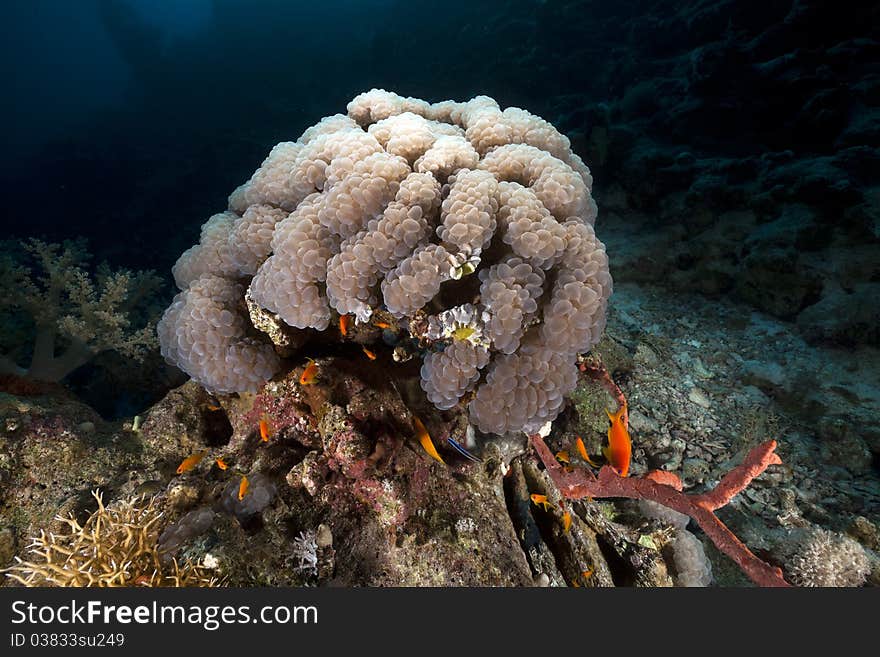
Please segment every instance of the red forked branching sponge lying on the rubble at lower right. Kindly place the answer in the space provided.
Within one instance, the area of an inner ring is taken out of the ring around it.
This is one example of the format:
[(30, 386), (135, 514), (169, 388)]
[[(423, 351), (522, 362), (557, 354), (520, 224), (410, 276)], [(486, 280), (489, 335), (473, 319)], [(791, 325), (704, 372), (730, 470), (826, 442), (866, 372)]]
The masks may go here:
[(715, 546), (733, 559), (740, 569), (758, 586), (789, 586), (779, 568), (765, 563), (715, 515), (737, 493), (764, 472), (768, 466), (781, 463), (775, 454), (776, 441), (770, 440), (752, 449), (742, 465), (725, 475), (708, 493), (688, 495), (681, 491), (681, 481), (669, 472), (651, 472), (644, 477), (621, 477), (604, 466), (596, 477), (589, 470), (566, 472), (540, 435), (530, 436), (532, 445), (547, 468), (547, 473), (563, 497), (626, 497), (651, 500), (690, 516)]

